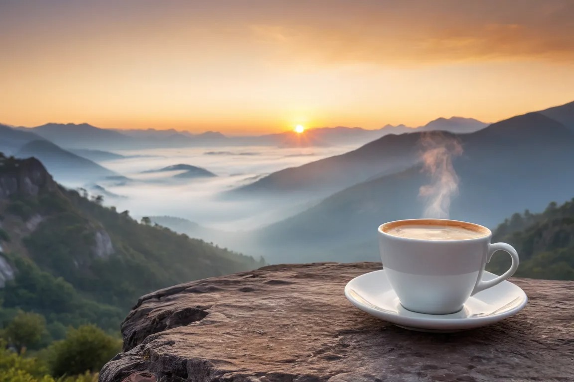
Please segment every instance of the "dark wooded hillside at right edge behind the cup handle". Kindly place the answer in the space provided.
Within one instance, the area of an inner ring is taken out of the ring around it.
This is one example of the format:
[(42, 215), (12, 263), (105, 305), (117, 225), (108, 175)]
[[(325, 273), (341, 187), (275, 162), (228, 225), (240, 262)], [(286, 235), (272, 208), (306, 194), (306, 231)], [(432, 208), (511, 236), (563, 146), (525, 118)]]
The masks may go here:
[[(515, 213), (494, 230), (493, 241), (513, 245), (520, 255), (517, 277), (574, 280), (574, 199), (552, 202), (541, 214)], [(504, 254), (488, 269), (501, 274), (509, 267)]]

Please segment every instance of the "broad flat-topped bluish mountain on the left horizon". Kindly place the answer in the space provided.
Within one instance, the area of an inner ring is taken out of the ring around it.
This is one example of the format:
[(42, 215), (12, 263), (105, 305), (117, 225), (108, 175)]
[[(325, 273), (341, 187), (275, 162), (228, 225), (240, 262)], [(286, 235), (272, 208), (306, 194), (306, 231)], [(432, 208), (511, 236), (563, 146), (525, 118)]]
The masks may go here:
[(28, 129), (66, 148), (119, 148), (132, 144), (132, 139), (117, 131), (101, 129), (87, 123), (48, 123)]

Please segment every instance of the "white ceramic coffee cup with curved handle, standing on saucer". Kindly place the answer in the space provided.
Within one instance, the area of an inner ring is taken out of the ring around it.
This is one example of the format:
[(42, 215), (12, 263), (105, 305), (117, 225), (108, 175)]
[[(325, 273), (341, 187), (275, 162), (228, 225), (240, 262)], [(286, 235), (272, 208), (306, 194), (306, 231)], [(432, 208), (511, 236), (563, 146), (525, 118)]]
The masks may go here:
[[(464, 239), (413, 238), (408, 237), (409, 227), (447, 227), (476, 235)], [(491, 237), (486, 227), (448, 219), (396, 220), (379, 226), (383, 268), (401, 305), (426, 314), (459, 312), (469, 297), (513, 275), (518, 268), (517, 251), (506, 243), (491, 244)], [(484, 267), (498, 250), (510, 254), (510, 269), (495, 279), (482, 281)]]

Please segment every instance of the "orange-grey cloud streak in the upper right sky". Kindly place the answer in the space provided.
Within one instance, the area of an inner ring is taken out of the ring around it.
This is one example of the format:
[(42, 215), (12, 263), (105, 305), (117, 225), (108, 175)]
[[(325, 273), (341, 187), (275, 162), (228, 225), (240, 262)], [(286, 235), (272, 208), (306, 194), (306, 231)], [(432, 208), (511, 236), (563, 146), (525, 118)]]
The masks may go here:
[(574, 58), (574, 3), (570, 1), (369, 4), (353, 2), (363, 13), (348, 10), (348, 19), (336, 23), (318, 15), (312, 23), (291, 20), (251, 25), (250, 29), (280, 56), (323, 64), (571, 62)]

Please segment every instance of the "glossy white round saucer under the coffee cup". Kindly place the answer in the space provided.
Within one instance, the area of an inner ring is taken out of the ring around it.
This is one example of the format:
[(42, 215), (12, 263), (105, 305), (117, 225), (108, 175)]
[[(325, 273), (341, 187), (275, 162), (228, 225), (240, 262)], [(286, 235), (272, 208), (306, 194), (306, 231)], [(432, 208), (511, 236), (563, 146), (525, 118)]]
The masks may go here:
[[(482, 279), (486, 281), (495, 277), (497, 275), (484, 271)], [(460, 312), (442, 315), (414, 313), (402, 307), (384, 269), (352, 279), (345, 286), (345, 296), (363, 312), (401, 328), (442, 333), (494, 324), (518, 313), (528, 302), (522, 289), (510, 281), (503, 281), (470, 297)]]

